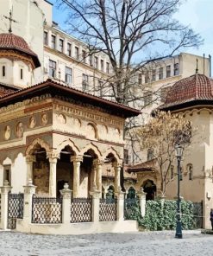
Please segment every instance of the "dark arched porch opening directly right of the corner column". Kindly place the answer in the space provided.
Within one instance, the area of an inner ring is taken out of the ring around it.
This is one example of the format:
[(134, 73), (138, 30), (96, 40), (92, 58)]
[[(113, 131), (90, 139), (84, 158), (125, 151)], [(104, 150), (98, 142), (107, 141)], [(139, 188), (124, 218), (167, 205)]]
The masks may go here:
[(60, 158), (57, 162), (56, 189), (57, 195), (60, 195), (60, 190), (64, 189), (64, 184), (68, 183), (69, 188), (73, 190), (73, 163), (71, 157), (75, 155), (72, 147), (66, 145), (60, 151)]

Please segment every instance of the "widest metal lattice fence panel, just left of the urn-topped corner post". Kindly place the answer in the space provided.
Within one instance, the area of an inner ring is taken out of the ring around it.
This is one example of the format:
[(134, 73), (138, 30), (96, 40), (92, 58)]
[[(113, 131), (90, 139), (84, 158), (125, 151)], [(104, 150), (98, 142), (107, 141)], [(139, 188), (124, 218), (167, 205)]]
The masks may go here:
[(62, 223), (62, 198), (38, 197), (33, 195), (32, 223)]

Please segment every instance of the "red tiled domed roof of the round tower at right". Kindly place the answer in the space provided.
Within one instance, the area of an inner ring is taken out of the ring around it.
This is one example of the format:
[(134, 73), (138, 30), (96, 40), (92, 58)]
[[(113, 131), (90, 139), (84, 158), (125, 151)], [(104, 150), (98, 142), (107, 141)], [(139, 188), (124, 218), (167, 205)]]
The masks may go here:
[(160, 109), (200, 100), (213, 100), (213, 80), (204, 74), (193, 74), (170, 88), (165, 104)]

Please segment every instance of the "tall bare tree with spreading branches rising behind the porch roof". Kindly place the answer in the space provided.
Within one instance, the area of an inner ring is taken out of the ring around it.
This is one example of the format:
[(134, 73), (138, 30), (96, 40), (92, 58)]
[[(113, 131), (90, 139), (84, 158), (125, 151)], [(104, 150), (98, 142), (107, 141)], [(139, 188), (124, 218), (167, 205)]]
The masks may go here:
[[(90, 54), (103, 52), (112, 73), (103, 82), (104, 96), (135, 106), (143, 97), (137, 75), (147, 64), (197, 47), (199, 35), (173, 18), (181, 0), (58, 0), (69, 12), (70, 32), (88, 43)], [(110, 90), (109, 90), (110, 87)], [(154, 98), (155, 99), (155, 98)]]

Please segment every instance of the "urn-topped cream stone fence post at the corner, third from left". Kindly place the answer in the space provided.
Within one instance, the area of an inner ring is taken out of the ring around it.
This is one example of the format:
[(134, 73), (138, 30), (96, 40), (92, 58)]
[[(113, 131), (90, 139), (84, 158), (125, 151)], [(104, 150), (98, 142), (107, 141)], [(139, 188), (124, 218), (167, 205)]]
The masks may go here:
[(64, 189), (60, 190), (60, 194), (63, 197), (62, 202), (62, 223), (63, 224), (70, 224), (71, 221), (71, 197), (72, 197), (72, 190), (69, 189), (68, 183), (65, 183)]

